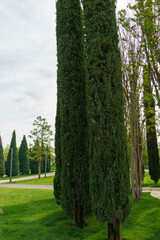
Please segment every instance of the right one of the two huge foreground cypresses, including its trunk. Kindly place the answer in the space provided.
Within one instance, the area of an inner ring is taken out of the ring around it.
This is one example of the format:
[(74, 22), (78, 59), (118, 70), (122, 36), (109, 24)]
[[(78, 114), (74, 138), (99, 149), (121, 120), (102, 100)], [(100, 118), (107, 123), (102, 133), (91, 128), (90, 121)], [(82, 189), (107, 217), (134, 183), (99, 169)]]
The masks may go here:
[(119, 240), (129, 213), (129, 163), (115, 0), (83, 0), (92, 210)]

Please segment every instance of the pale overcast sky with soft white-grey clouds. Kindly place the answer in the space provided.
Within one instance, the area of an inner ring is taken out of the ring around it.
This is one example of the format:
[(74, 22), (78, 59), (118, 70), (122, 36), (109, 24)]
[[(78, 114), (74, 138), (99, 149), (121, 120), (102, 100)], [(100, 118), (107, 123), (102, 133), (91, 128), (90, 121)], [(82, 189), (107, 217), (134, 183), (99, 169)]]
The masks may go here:
[(16, 130), (19, 146), (37, 116), (54, 130), (55, 0), (0, 0), (0, 25), (0, 134), (6, 147)]

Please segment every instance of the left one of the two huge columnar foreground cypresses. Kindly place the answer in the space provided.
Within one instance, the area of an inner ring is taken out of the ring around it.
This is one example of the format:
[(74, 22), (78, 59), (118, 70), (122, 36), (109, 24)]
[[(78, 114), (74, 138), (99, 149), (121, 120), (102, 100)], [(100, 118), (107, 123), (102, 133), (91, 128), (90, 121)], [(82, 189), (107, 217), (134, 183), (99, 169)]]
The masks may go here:
[[(89, 180), (83, 27), (79, 0), (57, 1), (57, 50), (62, 161), (60, 203), (64, 212), (74, 219), (75, 225), (84, 227), (89, 210)], [(56, 134), (59, 134), (57, 130), (59, 128), (56, 129)]]

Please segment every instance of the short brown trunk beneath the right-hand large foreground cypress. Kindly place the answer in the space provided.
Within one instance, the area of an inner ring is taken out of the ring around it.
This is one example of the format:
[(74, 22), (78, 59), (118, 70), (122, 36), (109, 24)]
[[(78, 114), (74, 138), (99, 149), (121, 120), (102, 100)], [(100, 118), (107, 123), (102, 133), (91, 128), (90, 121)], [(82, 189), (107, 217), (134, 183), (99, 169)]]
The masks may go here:
[(121, 223), (116, 220), (114, 223), (108, 224), (108, 240), (121, 240), (120, 234)]

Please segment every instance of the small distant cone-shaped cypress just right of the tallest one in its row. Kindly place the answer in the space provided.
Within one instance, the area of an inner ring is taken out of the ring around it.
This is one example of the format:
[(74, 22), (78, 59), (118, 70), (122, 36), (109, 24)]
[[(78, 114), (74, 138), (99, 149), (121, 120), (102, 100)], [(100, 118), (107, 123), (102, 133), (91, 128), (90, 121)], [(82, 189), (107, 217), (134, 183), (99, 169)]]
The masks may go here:
[(25, 135), (23, 136), (19, 153), (20, 173), (29, 174), (29, 159), (28, 159), (28, 145)]

